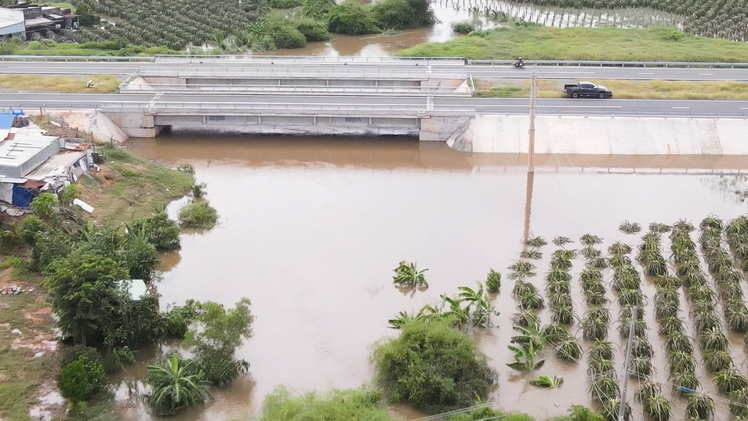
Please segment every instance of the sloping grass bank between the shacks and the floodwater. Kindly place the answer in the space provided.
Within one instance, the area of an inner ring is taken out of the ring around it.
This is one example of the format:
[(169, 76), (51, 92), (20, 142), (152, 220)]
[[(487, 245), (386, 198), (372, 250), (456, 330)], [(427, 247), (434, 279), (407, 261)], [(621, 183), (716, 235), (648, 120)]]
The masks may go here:
[(132, 153), (105, 147), (100, 173), (79, 181), (81, 198), (97, 222), (118, 224), (153, 216), (190, 190), (192, 176)]

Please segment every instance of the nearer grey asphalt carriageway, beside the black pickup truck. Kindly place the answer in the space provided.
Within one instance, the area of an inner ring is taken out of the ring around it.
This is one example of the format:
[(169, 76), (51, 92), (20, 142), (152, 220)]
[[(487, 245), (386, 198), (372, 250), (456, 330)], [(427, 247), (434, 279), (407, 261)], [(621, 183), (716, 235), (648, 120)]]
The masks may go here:
[[(50, 94), (9, 93), (0, 94), (0, 108), (18, 107), (47, 109), (93, 109), (107, 103), (124, 103), (130, 109), (147, 106), (163, 109), (252, 108), (289, 110), (340, 110), (367, 107), (417, 113), (474, 115), (474, 114), (527, 114), (529, 100), (525, 98), (460, 98), (435, 97), (432, 104), (422, 97), (382, 96), (298, 96), (298, 95), (186, 95), (186, 94)], [(181, 105), (180, 105), (181, 104)], [(285, 106), (284, 106), (285, 105)], [(694, 116), (748, 118), (746, 101), (695, 101), (695, 100), (599, 100), (599, 99), (538, 99), (539, 114), (546, 115), (614, 115), (614, 116)], [(403, 114), (406, 114), (403, 112)]]

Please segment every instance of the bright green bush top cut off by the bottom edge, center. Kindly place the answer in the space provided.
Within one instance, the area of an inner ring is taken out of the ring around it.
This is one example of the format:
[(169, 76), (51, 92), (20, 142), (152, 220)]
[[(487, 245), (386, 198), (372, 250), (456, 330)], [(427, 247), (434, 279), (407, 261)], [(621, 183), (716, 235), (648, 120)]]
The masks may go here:
[(260, 421), (395, 421), (380, 393), (367, 389), (333, 390), (324, 395), (292, 396), (279, 387), (265, 397)]

